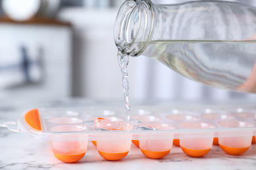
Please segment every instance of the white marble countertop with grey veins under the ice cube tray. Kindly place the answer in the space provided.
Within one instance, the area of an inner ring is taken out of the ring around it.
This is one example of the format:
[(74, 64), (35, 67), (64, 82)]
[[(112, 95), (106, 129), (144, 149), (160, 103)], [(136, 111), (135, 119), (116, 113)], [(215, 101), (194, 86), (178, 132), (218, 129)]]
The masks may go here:
[[(93, 100), (66, 99), (42, 101), (1, 101), (0, 122), (18, 118), (22, 111), (37, 107), (93, 105)], [(86, 104), (85, 104), (86, 103)], [(99, 104), (102, 104), (98, 102)], [(242, 156), (225, 154), (219, 146), (202, 158), (186, 156), (177, 146), (159, 160), (146, 158), (134, 144), (129, 154), (119, 161), (102, 158), (89, 142), (85, 156), (77, 163), (63, 163), (54, 158), (49, 141), (32, 139), (22, 133), (0, 127), (0, 169), (255, 169), (256, 144)]]

